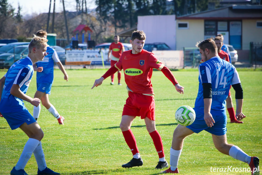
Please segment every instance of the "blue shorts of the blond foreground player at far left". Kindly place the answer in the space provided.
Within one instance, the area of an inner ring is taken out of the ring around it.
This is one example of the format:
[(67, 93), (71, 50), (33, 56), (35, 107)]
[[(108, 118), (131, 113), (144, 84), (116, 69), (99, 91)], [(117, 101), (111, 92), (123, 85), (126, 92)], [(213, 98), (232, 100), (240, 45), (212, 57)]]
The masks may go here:
[(19, 128), (23, 123), (32, 124), (36, 122), (34, 117), (29, 113), (29, 111), (26, 108), (19, 112), (2, 113), (2, 115), (12, 130)]

